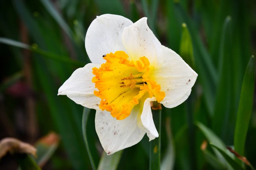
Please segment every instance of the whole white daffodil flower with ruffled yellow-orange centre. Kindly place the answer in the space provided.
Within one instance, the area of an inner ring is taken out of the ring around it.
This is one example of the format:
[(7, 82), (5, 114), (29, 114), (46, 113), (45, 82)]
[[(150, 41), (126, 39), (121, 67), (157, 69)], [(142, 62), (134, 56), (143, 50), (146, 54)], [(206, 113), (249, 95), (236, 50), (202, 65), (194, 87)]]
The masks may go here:
[(151, 101), (172, 108), (190, 95), (197, 74), (173, 50), (161, 45), (147, 18), (105, 14), (88, 28), (85, 49), (92, 61), (60, 87), (82, 106), (96, 109), (95, 128), (108, 155), (158, 137)]

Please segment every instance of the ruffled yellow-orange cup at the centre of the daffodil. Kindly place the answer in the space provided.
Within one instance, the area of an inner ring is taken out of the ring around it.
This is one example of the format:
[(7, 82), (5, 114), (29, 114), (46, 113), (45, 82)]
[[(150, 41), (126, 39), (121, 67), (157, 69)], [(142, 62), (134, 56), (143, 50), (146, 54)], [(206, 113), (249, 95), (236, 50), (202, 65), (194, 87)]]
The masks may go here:
[(148, 59), (129, 61), (128, 58), (124, 51), (116, 51), (104, 55), (106, 63), (93, 68), (92, 82), (98, 89), (94, 94), (101, 98), (99, 108), (111, 112), (117, 120), (127, 118), (144, 95), (155, 96), (158, 102), (165, 97), (160, 85), (148, 78), (154, 69)]

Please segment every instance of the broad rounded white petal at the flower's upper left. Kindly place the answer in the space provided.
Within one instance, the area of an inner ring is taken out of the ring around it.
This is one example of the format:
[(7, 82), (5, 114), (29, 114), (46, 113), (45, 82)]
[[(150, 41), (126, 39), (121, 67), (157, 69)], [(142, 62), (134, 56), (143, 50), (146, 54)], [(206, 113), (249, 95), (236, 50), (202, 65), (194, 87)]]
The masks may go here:
[(97, 18), (89, 26), (85, 36), (85, 49), (94, 64), (102, 64), (106, 61), (104, 54), (115, 51), (125, 51), (121, 35), (125, 27), (132, 24), (129, 19), (112, 14), (104, 14)]

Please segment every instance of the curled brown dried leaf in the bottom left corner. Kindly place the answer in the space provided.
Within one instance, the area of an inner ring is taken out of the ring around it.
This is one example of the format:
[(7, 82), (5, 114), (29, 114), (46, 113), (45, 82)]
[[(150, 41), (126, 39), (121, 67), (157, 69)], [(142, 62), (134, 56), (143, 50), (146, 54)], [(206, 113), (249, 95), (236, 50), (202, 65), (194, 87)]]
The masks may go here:
[(22, 142), (18, 139), (12, 137), (3, 138), (0, 141), (0, 159), (7, 154), (10, 153), (28, 153), (36, 157), (37, 149), (32, 145)]

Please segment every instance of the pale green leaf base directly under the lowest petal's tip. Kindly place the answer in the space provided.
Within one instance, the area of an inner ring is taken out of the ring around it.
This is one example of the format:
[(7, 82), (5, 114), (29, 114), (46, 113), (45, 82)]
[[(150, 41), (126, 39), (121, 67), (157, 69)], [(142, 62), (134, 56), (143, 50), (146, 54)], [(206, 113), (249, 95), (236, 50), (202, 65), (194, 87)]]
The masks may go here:
[(107, 153), (103, 151), (98, 170), (116, 170), (122, 154), (123, 150), (120, 150), (112, 155), (107, 155)]

